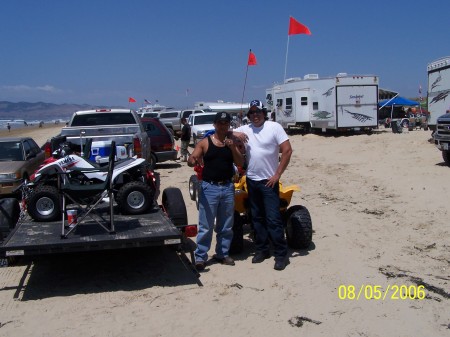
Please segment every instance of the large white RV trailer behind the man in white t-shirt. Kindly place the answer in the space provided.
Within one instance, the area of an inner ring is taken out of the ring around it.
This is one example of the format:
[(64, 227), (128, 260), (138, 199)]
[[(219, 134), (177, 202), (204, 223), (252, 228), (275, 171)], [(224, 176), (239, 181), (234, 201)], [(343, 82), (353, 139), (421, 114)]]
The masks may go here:
[(378, 124), (378, 76), (291, 78), (267, 89), (266, 103), (286, 130), (371, 130)]

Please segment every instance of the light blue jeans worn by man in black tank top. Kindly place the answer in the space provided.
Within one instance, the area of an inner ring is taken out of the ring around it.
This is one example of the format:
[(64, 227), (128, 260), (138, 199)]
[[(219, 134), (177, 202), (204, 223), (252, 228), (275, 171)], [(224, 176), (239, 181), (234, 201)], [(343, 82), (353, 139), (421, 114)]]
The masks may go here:
[(216, 255), (218, 258), (227, 257), (233, 239), (234, 184), (214, 185), (202, 181), (198, 202), (199, 229), (195, 261), (208, 260), (214, 230), (217, 233)]

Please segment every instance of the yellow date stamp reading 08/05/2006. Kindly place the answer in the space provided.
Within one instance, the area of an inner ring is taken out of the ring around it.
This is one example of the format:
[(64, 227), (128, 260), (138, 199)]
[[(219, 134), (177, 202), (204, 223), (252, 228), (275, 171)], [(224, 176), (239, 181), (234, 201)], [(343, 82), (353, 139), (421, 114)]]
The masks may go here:
[(338, 297), (340, 300), (423, 300), (426, 296), (423, 285), (380, 285), (361, 284), (359, 287), (352, 284), (340, 285)]

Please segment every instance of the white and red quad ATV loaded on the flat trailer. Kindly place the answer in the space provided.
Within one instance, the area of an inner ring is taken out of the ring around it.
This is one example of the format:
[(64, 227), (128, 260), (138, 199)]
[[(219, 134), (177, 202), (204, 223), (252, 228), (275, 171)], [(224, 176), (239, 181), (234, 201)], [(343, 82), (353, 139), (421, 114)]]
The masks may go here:
[[(117, 153), (123, 150), (117, 148)], [(80, 169), (83, 171), (80, 172)], [(71, 182), (83, 185), (105, 181), (107, 173), (107, 166), (100, 166), (73, 153), (67, 143), (61, 144), (53, 153), (53, 158), (47, 159), (27, 184), (28, 214), (35, 221), (61, 219), (62, 202), (58, 190), (61, 175), (65, 175)], [(143, 214), (154, 206), (158, 190), (157, 176), (149, 170), (145, 159), (126, 158), (116, 161), (112, 181), (114, 199), (122, 214)]]

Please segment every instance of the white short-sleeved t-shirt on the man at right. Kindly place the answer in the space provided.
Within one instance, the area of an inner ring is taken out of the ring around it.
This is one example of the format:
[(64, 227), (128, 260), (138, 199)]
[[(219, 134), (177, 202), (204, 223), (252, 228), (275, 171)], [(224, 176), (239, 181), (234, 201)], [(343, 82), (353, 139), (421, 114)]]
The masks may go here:
[(272, 121), (265, 121), (260, 127), (252, 124), (235, 129), (248, 136), (247, 177), (252, 180), (269, 179), (278, 168), (280, 144), (289, 140), (283, 127)]

